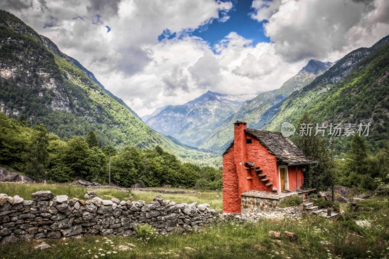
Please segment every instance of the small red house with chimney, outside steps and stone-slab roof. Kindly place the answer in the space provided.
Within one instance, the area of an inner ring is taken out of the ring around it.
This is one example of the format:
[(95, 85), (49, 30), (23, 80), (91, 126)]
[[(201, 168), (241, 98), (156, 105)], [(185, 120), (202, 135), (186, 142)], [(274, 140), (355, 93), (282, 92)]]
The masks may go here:
[(275, 195), (299, 190), (302, 168), (312, 163), (280, 132), (248, 129), (245, 121), (236, 121), (234, 140), (223, 154), (223, 211), (240, 213), (241, 194), (249, 190)]

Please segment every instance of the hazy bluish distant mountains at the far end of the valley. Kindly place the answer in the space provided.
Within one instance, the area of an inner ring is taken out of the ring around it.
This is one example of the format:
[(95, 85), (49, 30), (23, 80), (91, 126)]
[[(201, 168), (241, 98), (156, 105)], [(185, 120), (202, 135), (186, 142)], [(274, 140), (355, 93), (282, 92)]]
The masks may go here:
[(217, 141), (220, 141), (223, 139), (220, 139), (221, 135), (228, 132), (229, 136), (226, 135), (223, 140), (229, 142), (234, 121), (246, 120), (258, 124), (260, 109), (279, 103), (331, 66), (331, 62), (312, 59), (280, 89), (260, 91), (257, 96), (232, 96), (208, 91), (186, 104), (158, 108), (151, 116), (147, 115), (142, 119), (154, 130), (172, 136), (182, 143), (212, 150), (213, 147), (208, 146), (209, 141), (213, 140), (210, 136), (215, 136)]

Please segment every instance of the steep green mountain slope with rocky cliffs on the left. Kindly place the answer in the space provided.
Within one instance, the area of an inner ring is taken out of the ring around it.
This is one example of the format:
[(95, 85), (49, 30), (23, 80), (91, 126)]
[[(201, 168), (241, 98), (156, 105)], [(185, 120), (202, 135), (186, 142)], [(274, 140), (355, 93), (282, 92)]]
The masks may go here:
[(158, 144), (181, 157), (204, 155), (150, 129), (78, 61), (5, 11), (0, 11), (0, 110), (31, 125), (43, 123), (60, 137), (93, 130), (104, 145)]

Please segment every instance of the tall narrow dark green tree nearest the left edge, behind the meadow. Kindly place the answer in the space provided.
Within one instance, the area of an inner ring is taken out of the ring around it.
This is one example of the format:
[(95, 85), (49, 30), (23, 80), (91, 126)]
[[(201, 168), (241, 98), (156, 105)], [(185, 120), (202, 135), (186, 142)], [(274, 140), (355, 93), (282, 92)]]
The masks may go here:
[(36, 126), (35, 130), (28, 146), (29, 152), (25, 155), (25, 172), (35, 178), (43, 178), (49, 165), (49, 140), (44, 125)]

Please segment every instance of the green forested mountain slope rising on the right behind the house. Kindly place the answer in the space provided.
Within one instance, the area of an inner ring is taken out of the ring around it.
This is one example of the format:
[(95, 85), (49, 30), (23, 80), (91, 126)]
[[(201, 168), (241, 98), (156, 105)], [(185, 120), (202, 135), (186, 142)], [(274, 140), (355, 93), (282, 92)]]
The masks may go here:
[[(389, 138), (389, 36), (371, 48), (350, 52), (310, 85), (290, 95), (266, 128), (279, 131), (284, 121), (298, 126), (304, 113), (320, 124), (370, 122), (367, 140), (371, 149), (382, 147)], [(346, 151), (348, 140), (336, 139), (337, 151)]]

